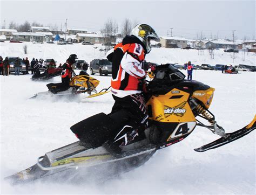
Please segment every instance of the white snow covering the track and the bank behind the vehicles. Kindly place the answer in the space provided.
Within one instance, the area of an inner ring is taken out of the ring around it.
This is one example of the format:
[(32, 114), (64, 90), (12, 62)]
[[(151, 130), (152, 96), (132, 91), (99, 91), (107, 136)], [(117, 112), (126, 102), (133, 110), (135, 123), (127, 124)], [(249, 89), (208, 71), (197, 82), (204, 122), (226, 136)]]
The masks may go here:
[[(87, 62), (105, 56), (99, 51), (104, 48), (100, 45), (95, 49), (96, 45), (25, 44), (28, 54), (23, 53), (24, 43), (7, 42), (0, 43), (0, 54), (54, 58), (58, 63), (63, 63), (71, 53)], [(240, 53), (235, 57), (236, 64), (255, 63), (251, 53), (246, 54), (245, 61)], [(206, 50), (204, 55), (198, 55), (196, 50), (152, 48), (146, 59), (159, 64), (183, 64), (188, 60), (193, 64), (232, 64), (231, 55), (222, 50), (216, 50), (214, 59), (210, 59)], [(110, 76), (93, 77), (100, 80), (98, 90), (110, 86)], [(74, 100), (58, 97), (30, 100), (34, 94), (47, 90), (47, 83), (60, 82), (59, 77), (45, 82), (33, 82), (30, 78), (31, 75), (0, 76), (1, 194), (255, 194), (255, 132), (199, 153), (193, 149), (218, 138), (200, 127), (184, 141), (157, 151), (140, 168), (104, 183), (92, 178), (82, 184), (36, 182), (11, 186), (3, 181), (4, 177), (35, 164), (47, 151), (77, 141), (69, 128), (94, 114), (111, 112), (114, 103), (110, 93), (92, 99), (80, 95)], [(227, 132), (240, 129), (253, 119), (255, 72), (221, 74), (195, 70), (193, 79), (215, 88), (210, 110)]]

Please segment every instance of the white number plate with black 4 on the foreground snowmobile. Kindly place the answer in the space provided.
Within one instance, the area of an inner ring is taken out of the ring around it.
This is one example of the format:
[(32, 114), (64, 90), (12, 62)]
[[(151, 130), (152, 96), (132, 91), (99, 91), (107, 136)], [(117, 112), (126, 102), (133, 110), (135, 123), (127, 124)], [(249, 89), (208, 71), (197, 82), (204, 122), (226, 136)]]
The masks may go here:
[(176, 127), (176, 129), (174, 129), (171, 137), (169, 137), (169, 141), (172, 138), (175, 137), (180, 137), (183, 136), (185, 134), (191, 133), (191, 131), (196, 127), (196, 122), (184, 122), (184, 123), (180, 123), (178, 124), (178, 126)]

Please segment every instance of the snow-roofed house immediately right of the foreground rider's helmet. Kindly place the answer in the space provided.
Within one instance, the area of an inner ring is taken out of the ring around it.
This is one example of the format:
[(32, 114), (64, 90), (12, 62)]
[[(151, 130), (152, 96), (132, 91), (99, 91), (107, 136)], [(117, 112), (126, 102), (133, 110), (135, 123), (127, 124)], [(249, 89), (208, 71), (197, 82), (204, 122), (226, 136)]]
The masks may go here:
[(187, 46), (187, 39), (183, 37), (160, 37), (160, 44), (165, 48), (184, 48)]

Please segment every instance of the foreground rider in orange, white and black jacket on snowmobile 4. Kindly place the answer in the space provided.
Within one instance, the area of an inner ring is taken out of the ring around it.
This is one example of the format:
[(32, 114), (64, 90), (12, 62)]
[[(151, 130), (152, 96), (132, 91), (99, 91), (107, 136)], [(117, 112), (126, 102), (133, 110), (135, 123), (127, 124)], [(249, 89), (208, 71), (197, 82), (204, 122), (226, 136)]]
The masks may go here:
[(120, 153), (139, 131), (147, 127), (149, 115), (143, 90), (148, 67), (144, 60), (151, 51), (150, 40), (160, 41), (151, 26), (139, 24), (132, 29), (131, 36), (126, 36), (107, 55), (112, 61), (111, 92), (115, 101), (111, 113), (124, 110), (129, 115), (127, 124), (118, 129), (123, 136), (114, 137), (104, 144), (109, 151)]

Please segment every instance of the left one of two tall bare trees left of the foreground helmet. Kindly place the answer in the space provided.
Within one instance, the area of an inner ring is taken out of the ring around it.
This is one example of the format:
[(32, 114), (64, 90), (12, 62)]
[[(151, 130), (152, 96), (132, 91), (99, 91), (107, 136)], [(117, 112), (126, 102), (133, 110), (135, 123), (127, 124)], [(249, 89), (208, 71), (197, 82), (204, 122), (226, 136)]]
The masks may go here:
[(116, 41), (116, 34), (118, 31), (118, 25), (116, 21), (113, 21), (112, 18), (107, 19), (107, 21), (104, 24), (104, 27), (100, 29), (100, 33), (104, 37), (104, 43), (106, 44), (106, 51), (109, 51), (112, 47), (111, 43)]

